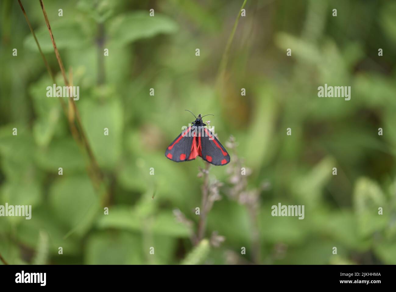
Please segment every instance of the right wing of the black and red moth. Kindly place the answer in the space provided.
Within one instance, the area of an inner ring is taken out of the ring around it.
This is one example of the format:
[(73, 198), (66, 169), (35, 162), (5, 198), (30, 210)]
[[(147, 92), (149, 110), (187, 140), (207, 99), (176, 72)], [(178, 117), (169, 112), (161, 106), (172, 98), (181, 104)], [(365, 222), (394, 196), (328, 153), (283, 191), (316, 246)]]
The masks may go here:
[(203, 131), (198, 131), (198, 144), (200, 145), (201, 157), (205, 161), (214, 165), (226, 165), (230, 162), (227, 150), (221, 145), (219, 140), (207, 128), (202, 127)]

